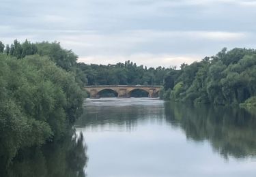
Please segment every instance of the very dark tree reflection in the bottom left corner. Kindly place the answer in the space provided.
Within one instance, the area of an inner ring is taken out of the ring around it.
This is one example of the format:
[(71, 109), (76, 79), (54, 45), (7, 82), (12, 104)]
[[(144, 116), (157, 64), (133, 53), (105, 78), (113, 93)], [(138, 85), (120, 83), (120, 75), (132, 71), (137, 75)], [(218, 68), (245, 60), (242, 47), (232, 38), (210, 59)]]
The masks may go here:
[(21, 150), (0, 176), (85, 176), (87, 146), (82, 134), (73, 133), (42, 148)]

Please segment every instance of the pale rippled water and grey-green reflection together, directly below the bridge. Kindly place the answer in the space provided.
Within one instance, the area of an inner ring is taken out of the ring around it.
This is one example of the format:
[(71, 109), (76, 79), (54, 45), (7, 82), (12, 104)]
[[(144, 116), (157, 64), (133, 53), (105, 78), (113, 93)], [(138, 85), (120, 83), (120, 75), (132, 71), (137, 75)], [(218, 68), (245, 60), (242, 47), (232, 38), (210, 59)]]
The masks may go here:
[(126, 127), (127, 131), (140, 123), (151, 120), (162, 121), (165, 118), (163, 101), (148, 98), (130, 99), (88, 99), (84, 114), (76, 121), (76, 128), (100, 129), (104, 126)]

